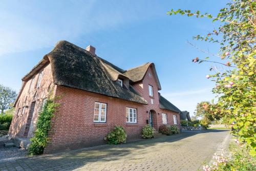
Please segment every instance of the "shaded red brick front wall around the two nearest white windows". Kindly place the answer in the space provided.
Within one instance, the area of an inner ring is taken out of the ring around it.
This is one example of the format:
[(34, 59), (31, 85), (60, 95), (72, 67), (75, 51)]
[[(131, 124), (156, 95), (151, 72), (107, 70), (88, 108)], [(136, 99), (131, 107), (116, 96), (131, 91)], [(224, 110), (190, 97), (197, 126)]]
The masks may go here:
[[(56, 96), (61, 96), (60, 106), (52, 119), (51, 142), (45, 154), (103, 144), (104, 136), (115, 125), (124, 127), (128, 139), (139, 138), (146, 124), (146, 112), (140, 103), (62, 86), (57, 86)], [(105, 123), (93, 122), (95, 102), (107, 104)], [(137, 123), (126, 123), (126, 107), (137, 109)]]

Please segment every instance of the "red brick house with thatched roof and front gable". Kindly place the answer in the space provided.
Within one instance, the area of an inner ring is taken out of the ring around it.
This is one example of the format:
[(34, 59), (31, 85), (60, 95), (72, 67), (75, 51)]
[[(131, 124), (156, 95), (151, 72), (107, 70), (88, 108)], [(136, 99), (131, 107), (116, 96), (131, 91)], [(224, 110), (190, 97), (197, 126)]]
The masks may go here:
[(124, 127), (127, 139), (139, 138), (147, 123), (156, 130), (162, 124), (180, 127), (181, 111), (158, 92), (154, 63), (122, 70), (95, 55), (94, 47), (62, 40), (22, 81), (11, 137), (33, 137), (49, 90), (61, 96), (45, 154), (103, 144), (115, 125)]

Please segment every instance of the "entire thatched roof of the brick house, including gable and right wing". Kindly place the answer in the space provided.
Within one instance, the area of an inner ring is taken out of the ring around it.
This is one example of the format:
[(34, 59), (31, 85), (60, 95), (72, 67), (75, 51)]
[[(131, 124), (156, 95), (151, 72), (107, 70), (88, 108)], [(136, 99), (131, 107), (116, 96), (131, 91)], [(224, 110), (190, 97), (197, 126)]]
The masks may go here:
[[(49, 62), (52, 67), (53, 81), (60, 86), (67, 86), (147, 104), (147, 101), (136, 92), (132, 87), (132, 84), (141, 81), (148, 68), (151, 67), (153, 71), (152, 74), (158, 84), (158, 90), (161, 90), (154, 63), (148, 62), (142, 66), (127, 71), (122, 70), (95, 54), (91, 54), (65, 40), (57, 42), (54, 49), (45, 55), (44, 58), (22, 78), (23, 82), (29, 80)], [(127, 89), (122, 88), (116, 82), (119, 76), (126, 77), (130, 80), (131, 84)], [(22, 90), (24, 85), (25, 84), (22, 86)], [(175, 105), (163, 98), (160, 94), (159, 101), (161, 109), (181, 112)]]

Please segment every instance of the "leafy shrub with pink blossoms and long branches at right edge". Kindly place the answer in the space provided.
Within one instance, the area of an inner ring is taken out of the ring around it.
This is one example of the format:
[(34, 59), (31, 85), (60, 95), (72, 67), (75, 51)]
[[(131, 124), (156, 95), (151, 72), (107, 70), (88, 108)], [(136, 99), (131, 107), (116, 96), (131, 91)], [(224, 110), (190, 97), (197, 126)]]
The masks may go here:
[[(217, 16), (181, 9), (172, 9), (167, 13), (208, 17), (212, 22), (219, 22), (218, 29), (204, 36), (193, 37), (218, 44), (219, 52), (210, 53), (195, 46), (207, 56), (196, 57), (192, 61), (216, 63), (216, 66), (210, 67), (214, 73), (206, 75), (206, 78), (216, 82), (212, 91), (217, 95), (217, 106), (221, 109), (218, 114), (228, 118), (233, 127), (232, 133), (239, 136), (240, 143), (245, 142), (252, 156), (256, 154), (255, 11), (256, 1), (234, 0), (222, 8)], [(209, 60), (209, 57), (215, 59)]]

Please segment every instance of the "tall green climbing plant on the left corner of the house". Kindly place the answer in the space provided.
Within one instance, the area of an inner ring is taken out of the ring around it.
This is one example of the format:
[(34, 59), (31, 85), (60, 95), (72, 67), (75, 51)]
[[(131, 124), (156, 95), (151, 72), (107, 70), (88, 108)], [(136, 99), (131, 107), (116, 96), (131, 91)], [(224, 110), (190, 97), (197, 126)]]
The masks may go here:
[(54, 99), (47, 99), (42, 110), (39, 112), (35, 135), (30, 139), (31, 144), (28, 149), (30, 155), (44, 153), (44, 149), (49, 141), (48, 132), (51, 128), (51, 119), (58, 105), (58, 103), (54, 102)]

